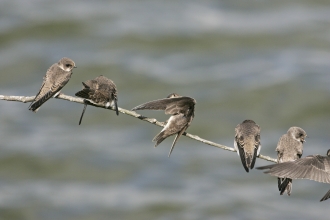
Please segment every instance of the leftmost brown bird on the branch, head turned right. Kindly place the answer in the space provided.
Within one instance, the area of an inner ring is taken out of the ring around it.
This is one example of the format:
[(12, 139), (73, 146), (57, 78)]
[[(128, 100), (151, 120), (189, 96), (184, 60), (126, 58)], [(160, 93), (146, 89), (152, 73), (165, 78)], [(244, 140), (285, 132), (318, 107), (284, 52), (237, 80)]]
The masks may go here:
[(48, 99), (58, 96), (61, 89), (69, 82), (73, 68), (76, 68), (75, 63), (66, 57), (60, 59), (58, 63), (54, 63), (47, 70), (41, 88), (30, 104), (29, 110), (37, 112)]

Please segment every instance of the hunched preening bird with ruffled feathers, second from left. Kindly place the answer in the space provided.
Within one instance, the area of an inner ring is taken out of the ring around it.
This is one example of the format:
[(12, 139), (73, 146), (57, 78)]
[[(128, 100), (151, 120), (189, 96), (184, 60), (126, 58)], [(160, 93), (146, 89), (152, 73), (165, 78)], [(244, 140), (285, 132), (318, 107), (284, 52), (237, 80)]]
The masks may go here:
[[(75, 95), (86, 99), (93, 104), (103, 104), (106, 108), (114, 106), (116, 114), (118, 115), (117, 105), (117, 88), (115, 83), (105, 76), (98, 76), (95, 79), (87, 80), (82, 83), (83, 89), (77, 92)], [(84, 116), (87, 103), (85, 102), (83, 112), (81, 114), (79, 125)]]

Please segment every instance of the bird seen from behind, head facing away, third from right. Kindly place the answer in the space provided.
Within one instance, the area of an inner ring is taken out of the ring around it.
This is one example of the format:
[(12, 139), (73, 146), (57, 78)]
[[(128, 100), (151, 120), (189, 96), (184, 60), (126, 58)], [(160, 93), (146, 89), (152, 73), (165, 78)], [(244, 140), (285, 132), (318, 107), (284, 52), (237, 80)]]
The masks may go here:
[(260, 127), (252, 120), (245, 120), (235, 128), (234, 146), (246, 172), (253, 169), (260, 154)]

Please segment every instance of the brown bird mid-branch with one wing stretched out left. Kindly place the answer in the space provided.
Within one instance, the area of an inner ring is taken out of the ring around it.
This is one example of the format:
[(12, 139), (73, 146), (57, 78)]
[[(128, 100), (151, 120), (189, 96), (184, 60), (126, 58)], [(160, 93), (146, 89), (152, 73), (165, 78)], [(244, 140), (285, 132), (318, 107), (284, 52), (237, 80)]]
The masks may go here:
[(190, 97), (180, 96), (172, 93), (165, 99), (159, 99), (144, 103), (132, 109), (135, 110), (165, 110), (165, 114), (172, 115), (166, 123), (165, 127), (157, 134), (152, 141), (156, 141), (155, 147), (159, 145), (167, 137), (176, 134), (170, 153), (174, 149), (175, 143), (180, 136), (187, 130), (194, 118), (196, 100)]

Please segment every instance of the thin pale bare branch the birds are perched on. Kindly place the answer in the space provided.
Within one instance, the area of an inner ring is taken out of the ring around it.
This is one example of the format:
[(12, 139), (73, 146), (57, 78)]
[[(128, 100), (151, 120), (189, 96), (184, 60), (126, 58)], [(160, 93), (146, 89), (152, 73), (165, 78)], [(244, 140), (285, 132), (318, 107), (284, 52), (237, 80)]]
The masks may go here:
[[(77, 98), (77, 97), (72, 97), (72, 96), (68, 96), (68, 95), (64, 95), (63, 93), (61, 93), (56, 98), (67, 100), (67, 101), (70, 101), (70, 102), (76, 102), (76, 103), (79, 103), (79, 104), (85, 104), (84, 103), (84, 99)], [(5, 96), (5, 95), (0, 95), (0, 100), (6, 100), (6, 101), (16, 101), (16, 102), (24, 102), (24, 103), (26, 103), (26, 102), (32, 102), (33, 99), (34, 99), (34, 96)], [(98, 108), (105, 108), (105, 109), (107, 109), (104, 105), (96, 105), (96, 104), (92, 104), (92, 103), (87, 103), (87, 104), (88, 105), (95, 106), (95, 107), (98, 107)], [(109, 110), (115, 111), (114, 109), (109, 109)], [(160, 127), (164, 127), (164, 124), (162, 122), (157, 121), (155, 118), (148, 118), (148, 117), (145, 117), (143, 115), (140, 115), (140, 114), (138, 114), (138, 113), (136, 113), (134, 111), (130, 111), (130, 110), (119, 108), (119, 107), (118, 107), (118, 111), (120, 111), (122, 114), (129, 115), (129, 116), (132, 116), (134, 118), (138, 118), (138, 119), (140, 119), (142, 121), (146, 121), (146, 122), (149, 122), (151, 124), (155, 124), (155, 125), (158, 125)], [(204, 144), (213, 146), (213, 147), (217, 147), (217, 148), (221, 148), (221, 149), (224, 149), (224, 150), (236, 152), (236, 150), (234, 148), (227, 147), (225, 145), (221, 145), (221, 144), (214, 143), (212, 141), (205, 140), (203, 138), (200, 138), (197, 135), (192, 135), (192, 134), (189, 134), (189, 133), (186, 133), (186, 132), (183, 135), (185, 135), (185, 136), (187, 136), (187, 137), (189, 137), (191, 139), (194, 139), (196, 141), (202, 142)], [(259, 158), (260, 159), (263, 159), (263, 160), (271, 161), (271, 162), (274, 162), (274, 163), (277, 162), (276, 159), (271, 158), (271, 157), (268, 157), (268, 156), (263, 156), (261, 154), (259, 155)]]

